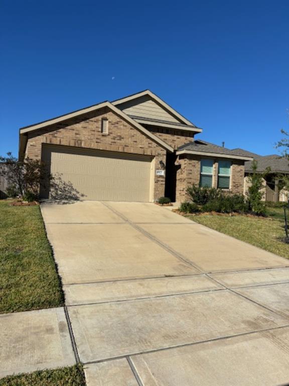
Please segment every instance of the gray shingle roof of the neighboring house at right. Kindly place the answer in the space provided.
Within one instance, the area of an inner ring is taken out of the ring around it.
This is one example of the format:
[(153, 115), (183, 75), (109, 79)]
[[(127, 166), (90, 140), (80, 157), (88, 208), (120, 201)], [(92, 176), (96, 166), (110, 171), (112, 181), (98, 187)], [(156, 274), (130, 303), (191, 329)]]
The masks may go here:
[[(289, 173), (289, 160), (281, 157), (278, 154), (271, 155), (259, 155), (251, 153), (244, 149), (233, 149), (232, 152), (238, 152), (238, 154), (247, 154), (252, 156), (257, 161), (257, 171), (265, 171), (270, 167), (271, 172)], [(236, 154), (236, 153), (235, 153)], [(252, 171), (252, 161), (245, 162), (245, 172)]]

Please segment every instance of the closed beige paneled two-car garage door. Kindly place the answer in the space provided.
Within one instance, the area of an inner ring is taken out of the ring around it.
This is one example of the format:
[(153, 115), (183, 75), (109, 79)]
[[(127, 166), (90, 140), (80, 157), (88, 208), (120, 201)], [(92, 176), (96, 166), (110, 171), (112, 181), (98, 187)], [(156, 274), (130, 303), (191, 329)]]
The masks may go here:
[[(60, 175), (59, 196), (70, 189), (81, 200), (150, 201), (153, 157), (48, 145), (42, 151), (52, 175)], [(56, 191), (46, 187), (42, 197)]]

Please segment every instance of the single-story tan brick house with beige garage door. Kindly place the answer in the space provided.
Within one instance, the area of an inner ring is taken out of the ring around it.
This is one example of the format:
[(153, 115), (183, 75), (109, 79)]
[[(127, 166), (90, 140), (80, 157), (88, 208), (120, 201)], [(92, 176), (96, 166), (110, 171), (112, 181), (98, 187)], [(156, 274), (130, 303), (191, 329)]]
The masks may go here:
[[(41, 159), (84, 200), (181, 202), (193, 183), (241, 194), (252, 158), (195, 140), (199, 133), (145, 90), (20, 129), (19, 157)], [(42, 186), (41, 197), (51, 190)]]

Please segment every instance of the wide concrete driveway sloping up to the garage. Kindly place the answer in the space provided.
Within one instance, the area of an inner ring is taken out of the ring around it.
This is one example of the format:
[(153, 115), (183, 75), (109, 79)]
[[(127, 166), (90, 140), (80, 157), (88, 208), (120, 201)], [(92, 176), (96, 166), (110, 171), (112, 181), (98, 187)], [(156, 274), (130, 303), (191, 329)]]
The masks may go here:
[(288, 260), (154, 204), (41, 209), (88, 385), (289, 381)]

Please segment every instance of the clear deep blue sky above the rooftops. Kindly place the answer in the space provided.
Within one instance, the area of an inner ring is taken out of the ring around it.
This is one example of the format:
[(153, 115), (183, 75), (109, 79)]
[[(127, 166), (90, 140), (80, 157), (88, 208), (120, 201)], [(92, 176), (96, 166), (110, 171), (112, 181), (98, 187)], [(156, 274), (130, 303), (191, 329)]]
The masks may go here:
[(289, 2), (2, 0), (0, 154), (18, 130), (146, 88), (204, 129), (272, 154), (288, 130)]

